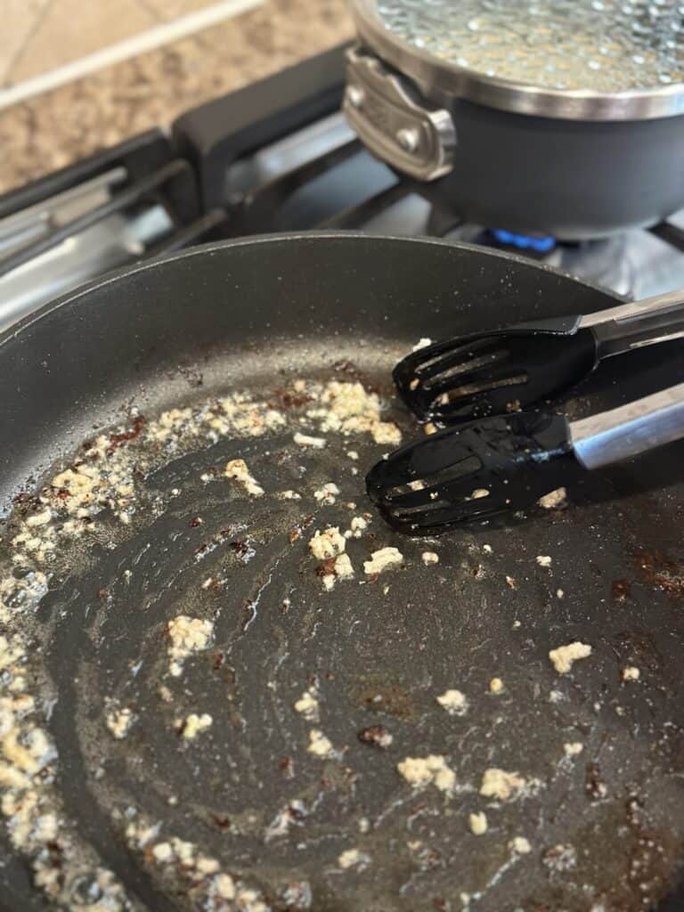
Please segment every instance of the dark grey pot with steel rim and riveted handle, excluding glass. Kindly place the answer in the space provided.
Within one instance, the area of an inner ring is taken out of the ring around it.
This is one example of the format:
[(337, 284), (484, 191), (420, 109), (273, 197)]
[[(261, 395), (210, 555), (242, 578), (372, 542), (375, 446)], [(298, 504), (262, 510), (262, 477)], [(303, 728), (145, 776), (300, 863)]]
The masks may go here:
[(616, 93), (487, 77), (389, 31), (351, 0), (345, 112), (368, 149), (440, 181), (464, 218), (492, 228), (600, 237), (684, 207), (684, 85)]

